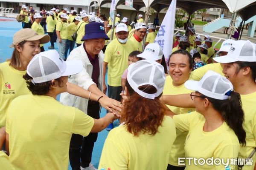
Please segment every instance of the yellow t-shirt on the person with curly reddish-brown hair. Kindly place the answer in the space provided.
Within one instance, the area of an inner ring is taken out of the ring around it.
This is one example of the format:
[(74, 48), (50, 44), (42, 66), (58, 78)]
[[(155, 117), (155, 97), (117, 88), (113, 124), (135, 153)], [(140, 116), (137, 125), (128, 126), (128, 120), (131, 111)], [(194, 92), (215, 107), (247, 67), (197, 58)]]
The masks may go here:
[(154, 136), (140, 134), (135, 137), (125, 125), (116, 127), (108, 133), (98, 169), (166, 170), (175, 138), (175, 126), (168, 116), (164, 117)]

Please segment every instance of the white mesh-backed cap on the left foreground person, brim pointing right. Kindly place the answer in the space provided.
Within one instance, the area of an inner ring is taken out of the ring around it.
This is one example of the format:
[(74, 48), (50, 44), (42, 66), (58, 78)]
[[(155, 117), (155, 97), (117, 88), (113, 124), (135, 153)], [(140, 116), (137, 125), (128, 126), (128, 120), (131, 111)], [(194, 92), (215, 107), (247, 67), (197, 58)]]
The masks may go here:
[(35, 55), (27, 66), (27, 73), (34, 83), (43, 83), (74, 75), (83, 69), (81, 61), (63, 61), (56, 50), (48, 50)]

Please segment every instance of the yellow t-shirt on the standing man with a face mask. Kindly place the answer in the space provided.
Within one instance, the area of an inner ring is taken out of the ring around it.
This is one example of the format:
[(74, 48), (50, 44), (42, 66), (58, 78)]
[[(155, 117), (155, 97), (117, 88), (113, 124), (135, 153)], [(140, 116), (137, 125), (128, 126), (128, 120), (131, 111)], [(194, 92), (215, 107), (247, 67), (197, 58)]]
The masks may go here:
[(131, 40), (122, 44), (114, 39), (108, 44), (104, 57), (104, 61), (108, 63), (108, 85), (121, 86), (121, 75), (128, 67), (128, 56), (135, 50)]

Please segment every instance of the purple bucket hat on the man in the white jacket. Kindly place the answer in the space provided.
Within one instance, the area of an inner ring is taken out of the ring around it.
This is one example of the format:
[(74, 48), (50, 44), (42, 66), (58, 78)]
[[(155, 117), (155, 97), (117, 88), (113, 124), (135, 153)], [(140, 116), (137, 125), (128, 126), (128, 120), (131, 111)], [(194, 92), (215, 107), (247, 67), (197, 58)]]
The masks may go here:
[(109, 37), (105, 33), (105, 28), (102, 23), (88, 23), (85, 25), (84, 37), (81, 41), (90, 40), (95, 38), (105, 38), (109, 40)]

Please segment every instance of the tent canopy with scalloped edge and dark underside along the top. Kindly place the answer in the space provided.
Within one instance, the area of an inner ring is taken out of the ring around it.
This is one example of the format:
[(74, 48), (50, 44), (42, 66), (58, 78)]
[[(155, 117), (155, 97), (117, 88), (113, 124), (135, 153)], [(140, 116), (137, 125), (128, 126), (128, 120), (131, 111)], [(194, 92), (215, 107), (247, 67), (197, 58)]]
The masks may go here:
[[(111, 0), (90, 0), (90, 6), (99, 3), (102, 6), (111, 3)], [(151, 7), (157, 12), (164, 8), (168, 8), (171, 0), (133, 0), (133, 7), (137, 11), (142, 7)], [(116, 0), (116, 6), (125, 4), (125, 0)], [(256, 15), (256, 0), (177, 0), (177, 7), (184, 9), (189, 14), (198, 9), (205, 8), (226, 8), (230, 12), (238, 12), (243, 20)]]

